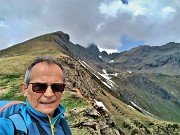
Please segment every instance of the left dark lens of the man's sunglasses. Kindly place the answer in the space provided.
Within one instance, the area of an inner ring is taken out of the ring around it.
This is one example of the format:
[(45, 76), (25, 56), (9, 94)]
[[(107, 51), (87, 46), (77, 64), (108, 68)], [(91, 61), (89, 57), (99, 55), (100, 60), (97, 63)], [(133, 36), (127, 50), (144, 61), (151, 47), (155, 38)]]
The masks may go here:
[(33, 83), (32, 90), (36, 93), (43, 93), (47, 89), (47, 84), (45, 83)]

